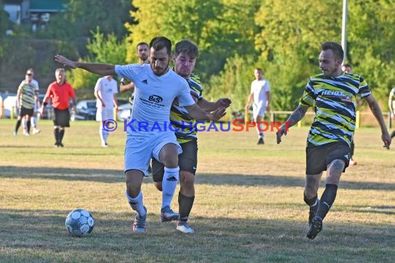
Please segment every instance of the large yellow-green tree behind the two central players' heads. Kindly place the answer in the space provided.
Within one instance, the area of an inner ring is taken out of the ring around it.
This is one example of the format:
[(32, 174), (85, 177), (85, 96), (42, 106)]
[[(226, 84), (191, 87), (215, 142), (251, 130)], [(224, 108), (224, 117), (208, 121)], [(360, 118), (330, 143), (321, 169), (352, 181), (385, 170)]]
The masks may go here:
[(196, 71), (203, 79), (218, 73), (228, 57), (254, 53), (257, 1), (164, 0), (154, 3), (134, 0), (133, 6), (136, 10), (131, 15), (137, 24), (126, 25), (130, 32), (130, 62), (137, 61), (136, 44), (149, 42), (157, 35), (165, 35), (173, 44), (181, 39), (190, 39), (198, 44), (200, 60)]

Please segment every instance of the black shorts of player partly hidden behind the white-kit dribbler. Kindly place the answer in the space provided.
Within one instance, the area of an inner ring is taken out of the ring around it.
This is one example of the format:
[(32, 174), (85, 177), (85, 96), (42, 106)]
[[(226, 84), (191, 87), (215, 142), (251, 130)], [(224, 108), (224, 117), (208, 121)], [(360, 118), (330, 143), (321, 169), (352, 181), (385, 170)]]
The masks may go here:
[[(198, 167), (198, 139), (180, 143), (182, 147), (182, 154), (178, 156), (178, 166), (180, 171), (196, 173)], [(163, 163), (152, 158), (152, 179), (155, 182), (161, 182), (164, 178)]]

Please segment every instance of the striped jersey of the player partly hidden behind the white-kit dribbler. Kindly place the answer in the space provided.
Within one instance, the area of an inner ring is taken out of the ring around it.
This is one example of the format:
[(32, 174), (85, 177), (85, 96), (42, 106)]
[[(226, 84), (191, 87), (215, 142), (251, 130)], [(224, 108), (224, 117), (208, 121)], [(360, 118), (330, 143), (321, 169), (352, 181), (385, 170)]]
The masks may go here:
[[(186, 81), (191, 89), (192, 98), (195, 101), (202, 100), (203, 89), (199, 75), (191, 74), (191, 78)], [(177, 101), (171, 106), (170, 122), (172, 122), (176, 129), (175, 136), (179, 143), (186, 143), (197, 137), (197, 131), (194, 129), (196, 120), (189, 116), (188, 111), (184, 107), (179, 106)]]

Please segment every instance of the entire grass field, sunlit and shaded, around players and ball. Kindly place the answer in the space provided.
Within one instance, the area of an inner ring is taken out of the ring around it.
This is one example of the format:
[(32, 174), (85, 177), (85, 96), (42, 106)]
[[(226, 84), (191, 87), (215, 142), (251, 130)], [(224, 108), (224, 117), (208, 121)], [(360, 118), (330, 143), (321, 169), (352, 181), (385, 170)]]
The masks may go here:
[[(161, 193), (150, 177), (148, 230), (132, 233), (122, 123), (109, 148), (100, 147), (96, 122), (71, 123), (64, 148), (53, 147), (49, 120), (39, 124), (40, 134), (14, 137), (15, 120), (0, 120), (0, 262), (394, 262), (395, 146), (382, 147), (379, 129), (356, 131), (358, 165), (342, 175), (322, 233), (309, 240), (308, 127), (292, 128), (281, 145), (271, 132), (265, 145), (256, 145), (255, 131), (201, 132), (196, 233), (185, 235), (160, 222)], [(76, 208), (96, 219), (87, 237), (64, 227)]]

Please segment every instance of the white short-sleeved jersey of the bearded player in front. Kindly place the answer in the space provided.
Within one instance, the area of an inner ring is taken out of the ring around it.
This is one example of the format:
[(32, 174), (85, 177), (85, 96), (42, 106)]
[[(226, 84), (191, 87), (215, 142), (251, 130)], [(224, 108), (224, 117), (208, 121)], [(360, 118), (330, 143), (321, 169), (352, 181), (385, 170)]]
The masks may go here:
[(170, 107), (175, 98), (179, 105), (195, 104), (186, 80), (174, 71), (155, 75), (150, 64), (116, 65), (119, 78), (127, 78), (134, 83), (134, 104), (132, 116), (125, 126), (129, 136), (147, 136), (169, 129)]

